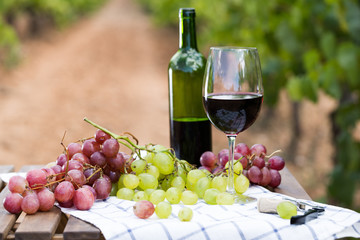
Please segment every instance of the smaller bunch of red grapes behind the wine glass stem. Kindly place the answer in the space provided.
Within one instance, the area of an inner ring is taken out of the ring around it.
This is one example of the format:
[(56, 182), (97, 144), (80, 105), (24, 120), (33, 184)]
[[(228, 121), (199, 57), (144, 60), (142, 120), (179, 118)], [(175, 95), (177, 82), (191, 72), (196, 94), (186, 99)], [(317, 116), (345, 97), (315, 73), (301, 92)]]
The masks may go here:
[[(279, 173), (285, 166), (285, 161), (280, 156), (266, 156), (266, 147), (255, 144), (248, 147), (239, 143), (234, 149), (234, 161), (239, 161), (243, 167), (243, 174), (253, 184), (275, 188), (281, 183)], [(214, 175), (225, 173), (229, 161), (229, 150), (223, 149), (218, 155), (213, 152), (204, 152), (200, 157), (200, 168), (207, 169)]]

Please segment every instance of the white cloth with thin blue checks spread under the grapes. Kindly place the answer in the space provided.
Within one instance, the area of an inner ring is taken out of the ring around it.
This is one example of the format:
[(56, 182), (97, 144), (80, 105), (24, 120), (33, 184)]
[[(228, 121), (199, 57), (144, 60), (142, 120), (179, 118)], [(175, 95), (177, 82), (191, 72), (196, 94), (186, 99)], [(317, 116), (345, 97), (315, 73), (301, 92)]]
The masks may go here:
[[(246, 195), (255, 198), (279, 198), (284, 195), (273, 193), (259, 186), (251, 186)], [(312, 201), (308, 201), (315, 203)], [(192, 208), (190, 222), (181, 222), (177, 213), (184, 207), (172, 205), (168, 219), (159, 219), (154, 213), (148, 219), (139, 219), (133, 213), (135, 202), (110, 197), (96, 201), (89, 211), (61, 208), (97, 226), (106, 239), (336, 239), (342, 237), (360, 238), (360, 214), (345, 208), (316, 203), (325, 206), (325, 212), (317, 219), (302, 225), (290, 225), (277, 214), (260, 213), (256, 202), (248, 204), (208, 205), (199, 200)]]

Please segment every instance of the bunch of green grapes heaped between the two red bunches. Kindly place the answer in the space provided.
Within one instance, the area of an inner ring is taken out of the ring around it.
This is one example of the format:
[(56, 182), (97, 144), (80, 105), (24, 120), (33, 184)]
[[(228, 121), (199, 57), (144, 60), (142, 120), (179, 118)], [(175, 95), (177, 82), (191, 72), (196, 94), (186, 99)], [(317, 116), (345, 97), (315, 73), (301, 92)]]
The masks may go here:
[[(120, 199), (148, 200), (155, 205), (164, 200), (193, 205), (199, 198), (208, 204), (234, 203), (226, 192), (226, 172), (214, 176), (206, 169), (194, 168), (185, 160), (173, 158), (163, 146), (156, 145), (143, 158), (133, 160), (128, 170), (113, 184), (112, 195)], [(244, 193), (249, 180), (241, 174), (240, 162), (235, 163), (235, 172), (235, 190)]]

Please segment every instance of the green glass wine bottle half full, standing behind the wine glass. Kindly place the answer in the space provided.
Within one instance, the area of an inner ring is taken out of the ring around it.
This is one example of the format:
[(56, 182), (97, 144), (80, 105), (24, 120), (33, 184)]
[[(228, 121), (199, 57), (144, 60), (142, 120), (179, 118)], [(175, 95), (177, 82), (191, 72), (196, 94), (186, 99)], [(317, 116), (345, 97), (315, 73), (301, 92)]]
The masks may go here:
[(171, 58), (169, 74), (170, 145), (179, 159), (200, 165), (211, 151), (211, 124), (202, 105), (206, 59), (198, 51), (195, 9), (179, 10), (179, 50)]

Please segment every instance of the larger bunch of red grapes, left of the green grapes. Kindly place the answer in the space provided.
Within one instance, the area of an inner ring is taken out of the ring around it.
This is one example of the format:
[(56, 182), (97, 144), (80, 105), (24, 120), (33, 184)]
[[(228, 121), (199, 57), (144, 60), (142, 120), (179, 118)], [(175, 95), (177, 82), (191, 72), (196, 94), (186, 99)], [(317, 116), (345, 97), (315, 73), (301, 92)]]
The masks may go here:
[(82, 143), (70, 143), (56, 163), (30, 170), (25, 178), (11, 177), (4, 208), (34, 214), (50, 210), (57, 201), (62, 207), (90, 209), (96, 199), (110, 195), (112, 183), (125, 171), (130, 155), (119, 149), (119, 142), (101, 130)]

